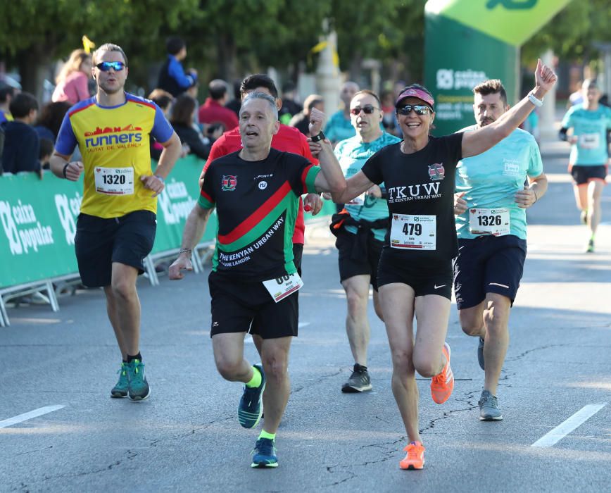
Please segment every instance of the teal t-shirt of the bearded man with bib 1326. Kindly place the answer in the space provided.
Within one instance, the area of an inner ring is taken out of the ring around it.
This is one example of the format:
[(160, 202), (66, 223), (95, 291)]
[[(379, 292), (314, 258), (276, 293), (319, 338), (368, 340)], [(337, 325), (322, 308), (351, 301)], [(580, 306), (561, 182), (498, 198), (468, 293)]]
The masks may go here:
[[(460, 132), (470, 132), (467, 127)], [(461, 239), (479, 234), (470, 231), (471, 208), (507, 208), (510, 235), (526, 239), (526, 210), (515, 203), (515, 193), (524, 189), (524, 181), (543, 173), (538, 145), (524, 130), (514, 130), (492, 149), (479, 156), (463, 158), (456, 167), (456, 192), (466, 192), (467, 211), (456, 216), (456, 232)]]

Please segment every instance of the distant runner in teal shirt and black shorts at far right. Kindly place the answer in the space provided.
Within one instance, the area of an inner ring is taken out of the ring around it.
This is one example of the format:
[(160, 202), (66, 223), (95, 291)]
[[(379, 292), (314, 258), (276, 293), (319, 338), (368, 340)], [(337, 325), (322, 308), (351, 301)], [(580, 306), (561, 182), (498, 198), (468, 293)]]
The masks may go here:
[[(584, 101), (572, 106), (562, 118), (560, 139), (572, 144), (569, 173), (581, 222), (588, 225), (590, 239), (586, 252), (594, 251), (594, 235), (600, 223), (600, 196), (607, 176), (609, 161), (608, 135), (611, 129), (611, 108), (598, 104), (600, 91), (596, 81), (584, 81), (581, 92)], [(573, 129), (570, 137), (569, 128)]]

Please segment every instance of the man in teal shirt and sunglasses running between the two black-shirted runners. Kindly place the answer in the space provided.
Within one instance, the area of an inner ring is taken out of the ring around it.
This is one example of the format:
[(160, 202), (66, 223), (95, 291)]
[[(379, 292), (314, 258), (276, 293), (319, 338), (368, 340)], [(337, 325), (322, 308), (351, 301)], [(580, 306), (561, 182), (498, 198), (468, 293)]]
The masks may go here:
[[(356, 135), (344, 139), (335, 148), (335, 156), (346, 178), (363, 167), (379, 149), (401, 139), (384, 132), (380, 122), (384, 113), (379, 97), (372, 91), (357, 92), (348, 101), (350, 121)], [(369, 286), (373, 287), (373, 304), (382, 320), (377, 292), (377, 265), (384, 245), (389, 210), (383, 187), (371, 187), (365, 194), (345, 204), (341, 222), (332, 225), (339, 250), (339, 277), (346, 291), (348, 313), (346, 333), (354, 358), (353, 373), (341, 387), (342, 392), (365, 392), (372, 389), (367, 371), (367, 346), (370, 325), (367, 320)]]

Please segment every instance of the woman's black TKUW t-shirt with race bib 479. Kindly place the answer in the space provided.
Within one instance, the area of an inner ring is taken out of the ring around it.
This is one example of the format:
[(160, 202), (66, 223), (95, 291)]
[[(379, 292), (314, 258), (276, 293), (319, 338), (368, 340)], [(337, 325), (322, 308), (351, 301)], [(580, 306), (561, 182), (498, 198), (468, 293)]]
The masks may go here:
[(453, 204), (460, 158), (462, 133), (457, 133), (429, 137), (413, 154), (403, 154), (401, 142), (386, 146), (363, 165), (365, 176), (384, 182), (388, 193), (391, 228), (384, 256), (398, 262), (448, 261), (458, 254)]

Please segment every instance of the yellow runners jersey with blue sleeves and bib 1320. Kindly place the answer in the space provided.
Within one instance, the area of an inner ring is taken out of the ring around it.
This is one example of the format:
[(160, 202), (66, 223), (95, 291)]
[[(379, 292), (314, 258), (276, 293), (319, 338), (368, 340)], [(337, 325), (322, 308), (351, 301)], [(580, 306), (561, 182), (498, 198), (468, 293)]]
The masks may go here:
[(81, 212), (99, 218), (156, 213), (157, 199), (140, 177), (152, 174), (150, 136), (166, 142), (173, 132), (153, 101), (129, 93), (119, 106), (100, 106), (93, 97), (70, 108), (56, 151), (70, 156), (79, 146), (84, 164)]

